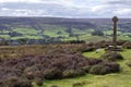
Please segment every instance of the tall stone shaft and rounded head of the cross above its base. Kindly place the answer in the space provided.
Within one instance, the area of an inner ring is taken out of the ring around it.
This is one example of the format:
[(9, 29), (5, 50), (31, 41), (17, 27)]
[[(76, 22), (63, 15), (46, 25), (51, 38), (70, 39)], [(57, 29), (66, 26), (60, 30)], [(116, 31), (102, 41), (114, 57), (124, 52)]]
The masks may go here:
[(117, 22), (118, 22), (118, 17), (117, 17), (117, 16), (114, 16), (114, 17), (112, 17), (112, 22), (114, 22), (112, 44), (114, 44), (114, 47), (117, 48)]

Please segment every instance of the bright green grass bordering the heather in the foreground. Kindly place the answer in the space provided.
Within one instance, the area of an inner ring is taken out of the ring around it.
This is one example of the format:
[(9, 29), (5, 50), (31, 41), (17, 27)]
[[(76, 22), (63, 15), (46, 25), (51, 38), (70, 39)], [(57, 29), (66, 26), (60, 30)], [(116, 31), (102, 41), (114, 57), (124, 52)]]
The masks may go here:
[[(83, 55), (99, 58), (105, 51), (102, 49), (100, 52), (85, 52)], [(126, 63), (131, 61), (131, 50), (124, 49), (123, 52), (120, 52), (124, 60), (118, 61), (121, 66), (120, 73), (107, 74), (107, 75), (92, 75), (86, 74), (85, 76), (75, 77), (75, 78), (66, 78), (66, 79), (53, 79), (53, 80), (44, 80), (43, 87), (50, 87), (51, 85), (58, 85), (59, 87), (72, 87), (74, 83), (86, 82), (83, 86), (80, 87), (131, 87), (131, 67)], [(36, 86), (37, 87), (37, 86)]]

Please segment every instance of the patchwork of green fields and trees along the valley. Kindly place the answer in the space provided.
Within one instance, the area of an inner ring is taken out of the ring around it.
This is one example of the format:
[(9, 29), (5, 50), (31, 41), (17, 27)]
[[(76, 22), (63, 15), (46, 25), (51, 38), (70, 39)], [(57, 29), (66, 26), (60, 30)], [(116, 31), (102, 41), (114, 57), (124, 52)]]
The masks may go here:
[[(67, 27), (56, 26), (56, 25), (43, 25), (44, 29), (35, 28), (12, 28), (11, 30), (0, 30), (0, 38), (4, 39), (49, 39), (58, 38), (61, 41), (67, 40), (85, 40), (86, 42), (97, 42), (102, 40), (111, 40), (112, 30), (104, 30), (104, 36), (93, 36), (93, 28), (79, 29), (72, 28), (71, 33), (67, 32)], [(10, 36), (10, 33), (21, 34)], [(118, 30), (119, 40), (131, 40), (131, 33), (122, 33)]]

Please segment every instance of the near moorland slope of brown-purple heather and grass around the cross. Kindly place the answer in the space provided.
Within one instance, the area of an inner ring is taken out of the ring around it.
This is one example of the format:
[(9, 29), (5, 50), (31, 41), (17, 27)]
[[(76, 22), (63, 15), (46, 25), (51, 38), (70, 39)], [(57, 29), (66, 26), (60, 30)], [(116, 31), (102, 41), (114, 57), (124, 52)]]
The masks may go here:
[(1, 46), (0, 87), (130, 87), (131, 42), (119, 41), (123, 51), (106, 60), (110, 44)]

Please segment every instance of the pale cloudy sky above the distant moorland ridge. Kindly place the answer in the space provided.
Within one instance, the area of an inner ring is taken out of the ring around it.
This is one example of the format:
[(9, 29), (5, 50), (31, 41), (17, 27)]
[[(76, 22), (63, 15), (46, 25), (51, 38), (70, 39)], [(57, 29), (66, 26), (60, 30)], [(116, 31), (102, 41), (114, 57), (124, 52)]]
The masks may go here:
[(131, 18), (131, 0), (0, 0), (0, 16)]

